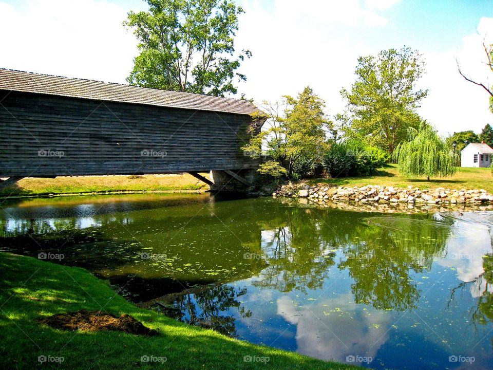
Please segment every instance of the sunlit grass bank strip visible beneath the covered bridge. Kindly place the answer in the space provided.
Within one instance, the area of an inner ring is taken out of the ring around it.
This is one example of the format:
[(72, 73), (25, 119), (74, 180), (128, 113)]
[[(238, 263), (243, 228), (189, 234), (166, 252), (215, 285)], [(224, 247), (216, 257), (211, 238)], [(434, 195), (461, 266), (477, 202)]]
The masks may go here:
[[(209, 177), (209, 174), (202, 174)], [(141, 191), (200, 191), (208, 186), (189, 174), (143, 176), (60, 176), (24, 178), (0, 190), (0, 196)]]

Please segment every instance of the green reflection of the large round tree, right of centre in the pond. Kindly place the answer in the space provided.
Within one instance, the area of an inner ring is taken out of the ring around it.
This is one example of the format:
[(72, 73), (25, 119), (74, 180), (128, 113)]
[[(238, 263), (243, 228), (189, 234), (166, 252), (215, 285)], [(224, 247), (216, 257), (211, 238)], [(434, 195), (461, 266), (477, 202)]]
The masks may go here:
[(359, 239), (343, 247), (346, 260), (338, 267), (349, 270), (356, 303), (406, 310), (420, 298), (410, 273), (431, 268), (433, 257), (444, 252), (450, 227), (401, 217), (386, 221), (356, 226)]

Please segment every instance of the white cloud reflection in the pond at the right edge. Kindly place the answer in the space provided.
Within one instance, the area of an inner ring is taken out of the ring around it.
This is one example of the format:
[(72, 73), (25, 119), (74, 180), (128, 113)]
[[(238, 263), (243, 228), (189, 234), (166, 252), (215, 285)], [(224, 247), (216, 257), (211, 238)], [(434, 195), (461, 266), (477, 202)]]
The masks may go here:
[(437, 263), (455, 268), (458, 279), (470, 282), (484, 272), (483, 255), (491, 252), (490, 230), (478, 224), (456, 228), (447, 241), (446, 249), (447, 256)]

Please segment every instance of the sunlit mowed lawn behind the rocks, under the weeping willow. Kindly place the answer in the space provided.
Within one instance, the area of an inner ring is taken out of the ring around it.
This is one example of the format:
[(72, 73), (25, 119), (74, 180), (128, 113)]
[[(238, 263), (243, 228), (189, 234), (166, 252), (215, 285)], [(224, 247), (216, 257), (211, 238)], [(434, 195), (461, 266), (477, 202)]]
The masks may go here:
[(397, 164), (389, 164), (378, 170), (373, 176), (317, 178), (311, 179), (309, 182), (329, 183), (334, 186), (385, 185), (407, 187), (411, 185), (420, 189), (485, 189), (489, 193), (493, 193), (493, 176), (489, 168), (458, 167), (457, 172), (451, 177), (431, 178), (430, 181), (427, 181), (426, 178), (405, 177), (397, 170)]

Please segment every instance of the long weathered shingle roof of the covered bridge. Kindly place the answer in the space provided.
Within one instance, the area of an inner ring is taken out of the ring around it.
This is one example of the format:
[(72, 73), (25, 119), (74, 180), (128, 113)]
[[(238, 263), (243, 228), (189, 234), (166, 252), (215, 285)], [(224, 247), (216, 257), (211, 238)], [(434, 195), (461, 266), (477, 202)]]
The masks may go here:
[(41, 75), (3, 68), (0, 68), (0, 90), (244, 115), (258, 110), (248, 100)]

